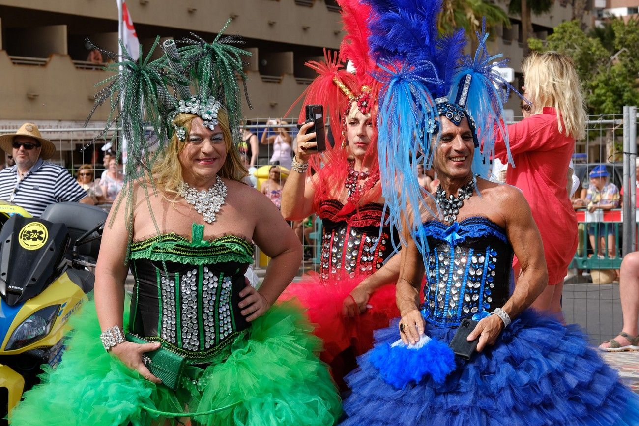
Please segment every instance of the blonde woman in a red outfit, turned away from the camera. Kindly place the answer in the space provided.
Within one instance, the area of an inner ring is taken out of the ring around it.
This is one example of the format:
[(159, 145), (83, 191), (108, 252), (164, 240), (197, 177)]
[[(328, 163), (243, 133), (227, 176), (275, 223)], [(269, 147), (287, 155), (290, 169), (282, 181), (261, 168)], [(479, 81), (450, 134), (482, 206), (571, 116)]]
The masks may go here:
[[(570, 57), (553, 51), (533, 52), (523, 62), (522, 72), (530, 116), (507, 126), (510, 151), (505, 137), (498, 133), (495, 153), (504, 164), (512, 155), (515, 167), (508, 168), (506, 183), (523, 192), (544, 243), (548, 286), (532, 306), (561, 318), (564, 277), (577, 249), (568, 166), (574, 142), (585, 134), (586, 111)], [(514, 267), (520, 270), (518, 260)]]

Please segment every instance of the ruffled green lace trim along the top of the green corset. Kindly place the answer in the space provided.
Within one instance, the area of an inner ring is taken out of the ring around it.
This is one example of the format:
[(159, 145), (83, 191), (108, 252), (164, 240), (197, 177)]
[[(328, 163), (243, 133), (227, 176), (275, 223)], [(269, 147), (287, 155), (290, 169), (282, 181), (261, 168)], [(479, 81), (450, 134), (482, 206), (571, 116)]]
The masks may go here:
[(203, 240), (203, 229), (204, 225), (193, 225), (192, 241), (174, 232), (136, 241), (131, 245), (129, 258), (194, 265), (253, 261), (253, 245), (249, 241), (235, 235), (206, 241)]

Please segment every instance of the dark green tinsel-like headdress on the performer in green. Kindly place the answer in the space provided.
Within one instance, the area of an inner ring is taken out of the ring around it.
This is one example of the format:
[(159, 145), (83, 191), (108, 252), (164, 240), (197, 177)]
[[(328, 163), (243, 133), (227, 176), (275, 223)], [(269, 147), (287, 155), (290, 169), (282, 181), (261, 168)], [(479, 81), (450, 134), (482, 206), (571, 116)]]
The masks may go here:
[[(230, 22), (229, 19), (211, 43), (195, 34), (192, 34), (193, 39), (179, 40), (178, 43), (183, 44), (179, 48), (173, 40), (166, 40), (162, 43), (164, 54), (155, 61), (150, 61), (150, 58), (157, 48), (159, 37), (144, 59), (140, 46), (139, 63), (130, 57), (122, 42), (121, 56), (91, 45), (113, 61), (105, 70), (115, 74), (96, 84), (96, 87), (102, 86), (102, 89), (95, 96), (95, 105), (84, 125), (89, 123), (95, 110), (109, 100), (111, 110), (105, 128), (92, 142), (105, 138), (114, 126), (119, 125), (127, 143), (124, 187), (114, 209), (120, 208), (123, 200), (132, 200), (136, 181), (148, 195), (146, 182), (151, 182), (152, 185), (153, 164), (166, 149), (173, 132), (179, 132), (179, 129), (173, 127), (172, 120), (176, 112), (183, 110), (185, 103), (194, 98), (203, 105), (217, 104), (224, 107), (228, 112), (233, 143), (240, 142), (242, 90), (238, 85), (238, 77), (242, 79), (243, 92), (250, 107), (242, 56), (250, 56), (251, 53), (236, 46), (242, 43), (237, 38), (222, 37)], [(211, 96), (215, 99), (211, 100)], [(217, 109), (208, 112), (215, 115)], [(117, 132), (113, 132), (112, 142), (115, 142), (116, 134)], [(119, 155), (122, 146), (117, 146)], [(130, 238), (133, 203), (126, 202), (125, 208)]]

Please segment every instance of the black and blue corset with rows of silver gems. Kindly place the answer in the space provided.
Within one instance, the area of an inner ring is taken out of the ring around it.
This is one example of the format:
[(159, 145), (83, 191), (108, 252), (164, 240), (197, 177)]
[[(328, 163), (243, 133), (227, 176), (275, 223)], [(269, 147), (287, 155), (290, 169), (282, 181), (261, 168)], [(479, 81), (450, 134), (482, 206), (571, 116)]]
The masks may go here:
[(502, 307), (512, 269), (504, 229), (483, 217), (423, 226), (429, 247), (422, 305), (426, 321), (458, 326), (461, 319), (479, 321)]

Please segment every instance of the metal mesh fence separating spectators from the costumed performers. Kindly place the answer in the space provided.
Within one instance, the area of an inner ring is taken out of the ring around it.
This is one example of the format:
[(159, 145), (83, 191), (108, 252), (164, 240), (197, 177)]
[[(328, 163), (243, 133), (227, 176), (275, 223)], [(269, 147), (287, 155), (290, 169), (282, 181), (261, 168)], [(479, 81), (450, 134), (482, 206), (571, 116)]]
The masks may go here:
[[(571, 199), (578, 219), (579, 245), (566, 277), (563, 307), (567, 322), (586, 328), (592, 343), (612, 337), (621, 329), (617, 271), (623, 255), (637, 250), (636, 119), (636, 107), (626, 107), (622, 114), (590, 116), (587, 135), (574, 148), (574, 175), (579, 186)], [(240, 144), (245, 164), (254, 186), (275, 204), (280, 202), (281, 188), (295, 155), (296, 123), (296, 118), (250, 118), (245, 122)], [(105, 152), (115, 151), (117, 146), (110, 146), (110, 134), (106, 140), (89, 144), (102, 130), (102, 123), (91, 123), (88, 128), (82, 128), (81, 124), (39, 125), (43, 137), (56, 145), (53, 162), (65, 166), (74, 176), (82, 164), (90, 164), (95, 179), (99, 179), (108, 166), (102, 162)], [(0, 122), (0, 134), (13, 133), (18, 126)], [(270, 176), (272, 165), (278, 165), (279, 171)], [(593, 208), (592, 194), (589, 196), (590, 172), (602, 169), (605, 173), (600, 174), (608, 175), (606, 185), (613, 185), (617, 194), (615, 208), (604, 211)], [(298, 276), (318, 270), (321, 219), (311, 215), (291, 222), (291, 226), (304, 245), (304, 263)], [(258, 250), (255, 261), (258, 275), (267, 263), (268, 259)]]

